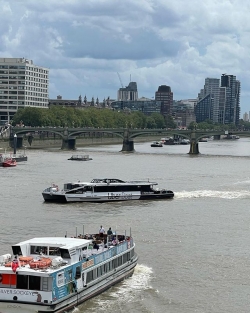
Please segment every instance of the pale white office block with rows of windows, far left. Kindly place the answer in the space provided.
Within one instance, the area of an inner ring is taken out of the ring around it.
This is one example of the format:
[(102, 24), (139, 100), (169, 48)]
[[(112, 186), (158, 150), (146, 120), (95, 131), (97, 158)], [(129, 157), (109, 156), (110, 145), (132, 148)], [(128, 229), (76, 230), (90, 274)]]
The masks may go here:
[(48, 99), (48, 68), (25, 58), (0, 58), (0, 125), (20, 108), (48, 108)]

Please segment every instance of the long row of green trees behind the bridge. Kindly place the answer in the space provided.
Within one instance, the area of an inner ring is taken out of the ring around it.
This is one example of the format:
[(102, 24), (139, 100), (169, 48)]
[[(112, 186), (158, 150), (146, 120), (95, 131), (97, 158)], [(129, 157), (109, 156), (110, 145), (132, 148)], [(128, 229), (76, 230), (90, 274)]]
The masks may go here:
[(12, 125), (41, 127), (99, 127), (99, 128), (175, 128), (171, 116), (159, 113), (145, 115), (142, 112), (118, 112), (108, 109), (76, 109), (52, 106), (49, 109), (27, 107), (14, 115)]

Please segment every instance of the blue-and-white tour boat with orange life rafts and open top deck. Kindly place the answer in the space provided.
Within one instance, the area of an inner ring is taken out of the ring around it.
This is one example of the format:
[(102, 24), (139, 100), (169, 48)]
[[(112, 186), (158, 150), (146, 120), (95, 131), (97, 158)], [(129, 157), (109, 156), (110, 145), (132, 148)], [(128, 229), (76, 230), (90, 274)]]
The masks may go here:
[(66, 312), (131, 276), (138, 259), (131, 234), (100, 235), (13, 245), (0, 256), (0, 312)]

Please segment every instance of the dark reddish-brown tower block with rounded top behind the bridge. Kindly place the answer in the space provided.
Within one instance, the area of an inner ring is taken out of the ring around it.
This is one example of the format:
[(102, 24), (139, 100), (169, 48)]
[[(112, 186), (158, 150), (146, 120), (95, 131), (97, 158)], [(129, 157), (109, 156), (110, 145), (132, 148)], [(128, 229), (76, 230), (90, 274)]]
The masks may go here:
[(173, 92), (169, 86), (159, 86), (158, 91), (155, 92), (155, 100), (161, 101), (161, 114), (166, 116), (172, 113)]

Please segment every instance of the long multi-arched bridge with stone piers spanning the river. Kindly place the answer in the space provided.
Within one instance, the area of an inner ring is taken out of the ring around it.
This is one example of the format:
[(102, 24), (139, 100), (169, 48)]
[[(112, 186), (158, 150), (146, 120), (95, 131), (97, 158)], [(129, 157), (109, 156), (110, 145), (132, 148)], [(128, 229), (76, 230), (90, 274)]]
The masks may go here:
[[(122, 150), (124, 152), (134, 151), (134, 138), (145, 135), (164, 136), (178, 136), (190, 140), (189, 154), (199, 154), (199, 139), (203, 137), (214, 136), (220, 139), (221, 135), (225, 135), (225, 131), (204, 131), (204, 130), (171, 130), (171, 129), (138, 129), (138, 128), (69, 128), (69, 127), (11, 127), (10, 129), (10, 145), (13, 146), (14, 134), (17, 135), (17, 148), (23, 146), (23, 138), (29, 134), (32, 141), (32, 134), (49, 132), (58, 135), (62, 139), (61, 149), (74, 150), (76, 147), (76, 140), (82, 134), (95, 133), (96, 135), (113, 134), (122, 138)], [(230, 134), (240, 137), (250, 137), (250, 131), (232, 131)]]

